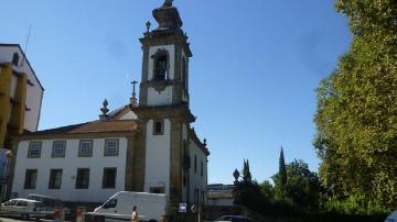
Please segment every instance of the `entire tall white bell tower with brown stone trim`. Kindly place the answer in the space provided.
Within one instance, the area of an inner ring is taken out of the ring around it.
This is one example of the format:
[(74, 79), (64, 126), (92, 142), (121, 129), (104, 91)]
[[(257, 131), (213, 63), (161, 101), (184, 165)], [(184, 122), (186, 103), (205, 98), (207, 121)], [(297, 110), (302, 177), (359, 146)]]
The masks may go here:
[[(190, 124), (195, 118), (189, 108), (189, 59), (192, 52), (182, 31), (182, 20), (172, 0), (152, 12), (140, 38), (143, 51), (138, 115), (139, 131), (132, 158), (131, 189), (162, 192), (171, 206), (189, 200), (185, 156)], [(185, 145), (186, 146), (186, 145)]]

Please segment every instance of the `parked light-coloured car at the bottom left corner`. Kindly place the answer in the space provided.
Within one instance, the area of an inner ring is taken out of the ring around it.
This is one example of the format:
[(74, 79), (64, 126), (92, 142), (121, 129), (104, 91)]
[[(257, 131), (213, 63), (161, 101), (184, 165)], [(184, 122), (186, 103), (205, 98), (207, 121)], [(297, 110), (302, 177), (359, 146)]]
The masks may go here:
[(21, 217), (23, 220), (29, 218), (41, 219), (52, 213), (52, 211), (46, 211), (43, 203), (36, 200), (17, 198), (1, 203), (1, 214)]

